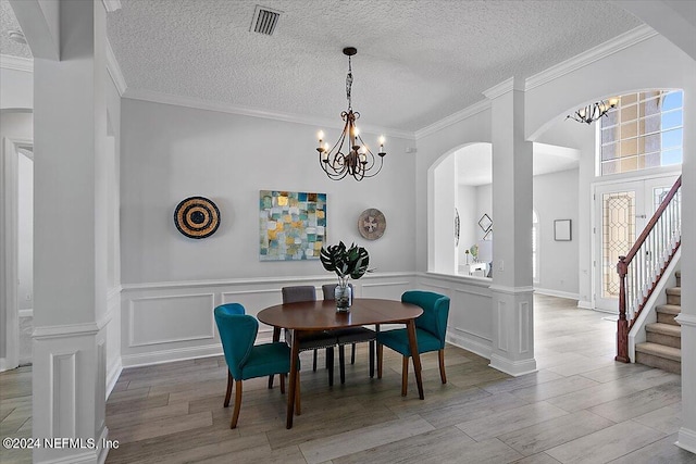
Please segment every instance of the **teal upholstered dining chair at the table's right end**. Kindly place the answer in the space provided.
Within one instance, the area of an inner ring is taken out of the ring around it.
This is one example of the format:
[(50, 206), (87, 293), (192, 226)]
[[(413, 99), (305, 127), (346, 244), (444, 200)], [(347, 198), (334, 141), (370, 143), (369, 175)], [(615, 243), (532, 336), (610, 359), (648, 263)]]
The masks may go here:
[[(401, 301), (423, 309), (423, 314), (415, 318), (415, 339), (418, 352), (437, 351), (439, 376), (447, 384), (445, 375), (445, 335), (449, 316), (449, 297), (432, 291), (409, 290), (403, 292)], [(406, 328), (377, 333), (377, 378), (382, 378), (383, 347), (389, 347), (403, 356), (401, 369), (401, 396), (406, 397), (409, 377), (409, 358), (411, 347)]]

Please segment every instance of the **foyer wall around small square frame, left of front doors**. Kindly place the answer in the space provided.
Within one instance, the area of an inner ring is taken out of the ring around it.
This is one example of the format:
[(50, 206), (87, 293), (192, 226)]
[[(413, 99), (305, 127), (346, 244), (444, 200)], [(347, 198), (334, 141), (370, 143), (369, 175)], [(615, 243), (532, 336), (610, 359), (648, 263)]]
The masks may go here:
[[(534, 209), (539, 220), (537, 290), (577, 298), (579, 170), (534, 176)], [(554, 239), (554, 221), (571, 220), (571, 241)]]

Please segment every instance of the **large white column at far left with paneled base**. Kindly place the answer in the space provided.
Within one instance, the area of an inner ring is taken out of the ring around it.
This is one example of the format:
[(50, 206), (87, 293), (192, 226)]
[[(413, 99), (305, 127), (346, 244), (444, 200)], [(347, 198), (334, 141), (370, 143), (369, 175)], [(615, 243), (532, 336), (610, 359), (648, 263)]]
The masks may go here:
[[(58, 2), (57, 2), (58, 3)], [(60, 61), (35, 57), (34, 462), (103, 461), (105, 11), (62, 0)]]

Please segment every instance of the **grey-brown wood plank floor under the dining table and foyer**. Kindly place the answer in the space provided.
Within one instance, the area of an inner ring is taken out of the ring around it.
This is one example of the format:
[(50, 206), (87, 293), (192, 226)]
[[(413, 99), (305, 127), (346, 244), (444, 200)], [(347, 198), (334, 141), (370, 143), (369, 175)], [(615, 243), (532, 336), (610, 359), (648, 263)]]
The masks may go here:
[[(437, 355), (425, 354), (424, 401), (412, 375), (400, 397), (401, 362), (388, 349), (381, 380), (359, 346), (346, 384), (336, 372), (333, 388), (306, 353), (302, 415), (290, 430), (285, 397), (265, 379), (245, 381), (238, 428), (228, 428), (222, 358), (124, 369), (107, 404), (121, 446), (107, 462), (696, 463), (673, 444), (680, 376), (613, 362), (616, 323), (574, 304), (535, 298), (537, 373), (512, 378), (448, 347), (442, 385)], [(2, 436), (30, 436), (30, 371), (0, 374), (0, 387)], [(29, 462), (0, 453), (2, 463)]]

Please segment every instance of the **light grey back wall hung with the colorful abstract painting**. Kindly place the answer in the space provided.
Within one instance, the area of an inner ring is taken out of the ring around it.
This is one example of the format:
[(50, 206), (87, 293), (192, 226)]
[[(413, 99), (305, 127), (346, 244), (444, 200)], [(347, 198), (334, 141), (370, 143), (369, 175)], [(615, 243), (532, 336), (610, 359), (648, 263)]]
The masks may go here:
[[(335, 280), (319, 260), (259, 261), (262, 189), (327, 193), (328, 242), (365, 247), (376, 269), (353, 283), (357, 294), (398, 298), (412, 285), (415, 174), (413, 155), (406, 153), (412, 141), (387, 135), (376, 177), (334, 181), (319, 166), (315, 126), (133, 99), (122, 100), (121, 110), (125, 365), (219, 353), (214, 305), (238, 301), (256, 314), (279, 303), (285, 285)], [(324, 130), (335, 139), (337, 130)], [(220, 228), (206, 239), (187, 238), (174, 226), (175, 206), (190, 196), (220, 209)], [(368, 208), (387, 222), (374, 241), (358, 233)]]

